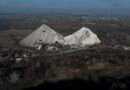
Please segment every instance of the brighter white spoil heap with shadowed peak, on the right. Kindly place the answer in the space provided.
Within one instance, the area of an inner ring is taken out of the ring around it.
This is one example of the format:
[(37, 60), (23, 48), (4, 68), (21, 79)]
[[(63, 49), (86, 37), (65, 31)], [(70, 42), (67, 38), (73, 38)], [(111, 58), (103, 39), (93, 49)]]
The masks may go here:
[(90, 29), (83, 27), (72, 35), (64, 37), (68, 45), (76, 45), (80, 47), (91, 46), (101, 43), (96, 34)]

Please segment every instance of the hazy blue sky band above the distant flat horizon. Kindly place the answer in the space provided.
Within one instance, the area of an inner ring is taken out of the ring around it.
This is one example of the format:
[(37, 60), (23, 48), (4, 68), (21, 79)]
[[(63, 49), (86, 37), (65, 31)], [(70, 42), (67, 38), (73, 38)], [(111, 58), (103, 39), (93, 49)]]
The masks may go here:
[(0, 12), (44, 12), (44, 10), (116, 10), (129, 12), (130, 0), (0, 0)]

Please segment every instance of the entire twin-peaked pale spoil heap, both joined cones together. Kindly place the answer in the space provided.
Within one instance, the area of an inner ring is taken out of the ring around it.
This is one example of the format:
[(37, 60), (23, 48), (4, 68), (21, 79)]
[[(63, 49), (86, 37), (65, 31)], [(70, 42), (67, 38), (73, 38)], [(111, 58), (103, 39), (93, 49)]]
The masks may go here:
[(101, 43), (101, 41), (97, 35), (88, 28), (83, 27), (74, 34), (63, 37), (47, 25), (42, 25), (20, 41), (20, 45), (22, 46), (35, 47), (39, 50), (43, 45), (47, 45), (47, 47), (51, 45), (55, 47), (57, 44), (62, 46), (69, 45), (71, 47), (86, 47), (99, 43)]

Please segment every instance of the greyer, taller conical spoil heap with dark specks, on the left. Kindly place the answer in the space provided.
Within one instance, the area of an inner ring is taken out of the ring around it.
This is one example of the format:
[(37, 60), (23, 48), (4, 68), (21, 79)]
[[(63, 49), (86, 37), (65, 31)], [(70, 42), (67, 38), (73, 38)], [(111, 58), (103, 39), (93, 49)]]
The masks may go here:
[(22, 46), (36, 47), (38, 48), (41, 43), (43, 44), (55, 44), (58, 42), (61, 45), (65, 44), (64, 37), (55, 32), (47, 25), (42, 25), (37, 30), (32, 32), (29, 36), (24, 38), (20, 44)]

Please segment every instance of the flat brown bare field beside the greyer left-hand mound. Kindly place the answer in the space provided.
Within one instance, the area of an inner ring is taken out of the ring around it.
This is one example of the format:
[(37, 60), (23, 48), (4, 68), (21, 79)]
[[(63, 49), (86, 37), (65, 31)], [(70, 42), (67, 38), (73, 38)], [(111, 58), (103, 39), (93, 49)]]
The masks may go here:
[(33, 30), (5, 30), (0, 31), (0, 46), (12, 47), (16, 40), (21, 40)]

